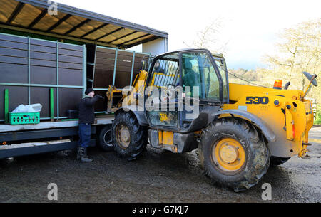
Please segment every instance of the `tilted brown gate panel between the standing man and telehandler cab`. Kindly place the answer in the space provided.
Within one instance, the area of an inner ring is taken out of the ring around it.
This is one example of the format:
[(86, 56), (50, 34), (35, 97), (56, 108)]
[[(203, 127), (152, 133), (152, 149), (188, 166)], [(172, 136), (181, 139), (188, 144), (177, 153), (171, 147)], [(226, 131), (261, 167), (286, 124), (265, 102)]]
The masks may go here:
[[(96, 46), (94, 56), (94, 63), (87, 63), (87, 87), (103, 96), (106, 96), (109, 85), (118, 90), (133, 85), (133, 80), (141, 70), (141, 60), (149, 61), (151, 58), (150, 53), (101, 46)], [(99, 100), (95, 109), (96, 113), (106, 112), (107, 100)]]

